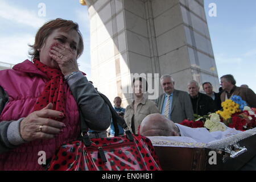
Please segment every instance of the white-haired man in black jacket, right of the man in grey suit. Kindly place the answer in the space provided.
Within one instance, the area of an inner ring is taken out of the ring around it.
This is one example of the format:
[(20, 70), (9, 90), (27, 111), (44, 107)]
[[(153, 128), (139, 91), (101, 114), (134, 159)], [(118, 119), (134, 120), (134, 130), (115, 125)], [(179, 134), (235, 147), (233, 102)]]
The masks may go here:
[(199, 92), (199, 84), (192, 80), (188, 83), (188, 93), (191, 98), (193, 111), (197, 115), (207, 115), (216, 111), (213, 99)]

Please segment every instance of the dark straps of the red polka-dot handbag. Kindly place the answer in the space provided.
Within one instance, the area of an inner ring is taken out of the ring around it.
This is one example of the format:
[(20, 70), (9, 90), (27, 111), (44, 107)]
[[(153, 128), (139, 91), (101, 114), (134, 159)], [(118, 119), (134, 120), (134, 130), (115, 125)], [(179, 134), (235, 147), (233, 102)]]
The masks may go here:
[[(123, 128), (123, 130), (125, 130), (127, 139), (129, 139), (130, 141), (133, 141), (134, 140), (133, 135), (131, 134), (129, 127), (126, 125), (125, 119), (121, 118), (117, 114), (117, 112), (114, 110), (111, 102), (104, 94), (102, 94), (100, 92), (98, 92), (98, 94), (103, 98), (105, 103), (109, 106), (109, 109), (110, 109), (110, 112), (112, 115), (113, 124), (114, 124), (115, 136), (117, 136), (119, 134), (118, 125), (117, 125), (117, 123), (118, 123)], [(79, 112), (80, 112), (80, 117), (81, 117), (82, 140), (85, 143), (85, 146), (90, 146), (91, 142), (90, 142), (90, 138), (88, 135), (89, 128), (86, 125), (86, 122), (85, 122), (86, 119), (84, 118), (84, 114), (82, 114), (82, 111), (80, 108), (79, 108)]]

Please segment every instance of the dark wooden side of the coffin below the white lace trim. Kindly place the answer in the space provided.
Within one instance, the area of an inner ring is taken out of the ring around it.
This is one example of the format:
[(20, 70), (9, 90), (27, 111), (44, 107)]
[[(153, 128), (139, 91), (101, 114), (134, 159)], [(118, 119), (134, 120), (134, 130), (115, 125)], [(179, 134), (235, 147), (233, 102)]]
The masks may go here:
[[(236, 159), (222, 162), (224, 154), (217, 154), (217, 164), (209, 164), (209, 148), (169, 147), (154, 146), (160, 165), (164, 171), (220, 171), (238, 170), (256, 155), (256, 135), (238, 142), (241, 147), (245, 146), (247, 152)], [(169, 157), (166, 157), (169, 156)], [(175, 164), (175, 165), (174, 165)]]

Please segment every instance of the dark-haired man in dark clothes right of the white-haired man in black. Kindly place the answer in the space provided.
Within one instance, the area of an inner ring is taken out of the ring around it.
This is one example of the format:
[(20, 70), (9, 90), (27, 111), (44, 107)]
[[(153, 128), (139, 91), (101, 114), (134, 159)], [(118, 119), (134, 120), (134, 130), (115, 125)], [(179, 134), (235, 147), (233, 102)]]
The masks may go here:
[(212, 84), (210, 82), (204, 82), (203, 89), (205, 94), (207, 94), (207, 96), (212, 97), (216, 110), (222, 109), (220, 93), (213, 92)]

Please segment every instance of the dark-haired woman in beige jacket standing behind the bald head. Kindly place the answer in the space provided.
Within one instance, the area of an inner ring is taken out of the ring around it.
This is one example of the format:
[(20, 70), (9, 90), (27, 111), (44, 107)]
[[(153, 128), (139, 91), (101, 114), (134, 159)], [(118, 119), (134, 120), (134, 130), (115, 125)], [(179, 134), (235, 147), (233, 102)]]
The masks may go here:
[(128, 105), (125, 109), (125, 122), (134, 134), (138, 134), (138, 127), (141, 125), (142, 120), (149, 114), (159, 113), (159, 110), (155, 102), (143, 97), (141, 77), (137, 80), (133, 80), (133, 93), (134, 100), (131, 105)]

